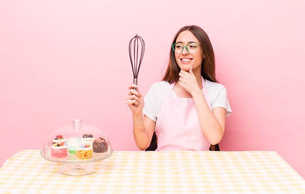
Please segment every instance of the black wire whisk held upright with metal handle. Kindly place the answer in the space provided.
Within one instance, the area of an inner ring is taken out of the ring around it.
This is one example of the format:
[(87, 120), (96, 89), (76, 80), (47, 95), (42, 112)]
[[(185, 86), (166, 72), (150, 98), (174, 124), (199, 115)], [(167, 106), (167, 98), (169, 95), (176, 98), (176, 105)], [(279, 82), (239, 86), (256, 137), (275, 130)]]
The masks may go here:
[[(145, 42), (137, 34), (129, 41), (129, 57), (133, 68), (133, 84), (138, 84), (138, 75), (145, 51)], [(136, 88), (134, 88), (136, 90)]]

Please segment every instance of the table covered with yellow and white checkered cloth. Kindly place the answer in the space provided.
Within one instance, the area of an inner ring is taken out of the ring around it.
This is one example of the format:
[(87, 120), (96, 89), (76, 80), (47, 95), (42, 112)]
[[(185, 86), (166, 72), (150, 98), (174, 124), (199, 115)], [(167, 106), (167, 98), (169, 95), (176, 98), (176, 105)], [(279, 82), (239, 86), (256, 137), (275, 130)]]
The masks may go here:
[(91, 175), (59, 173), (40, 150), (0, 168), (0, 194), (305, 194), (305, 180), (276, 152), (115, 151)]

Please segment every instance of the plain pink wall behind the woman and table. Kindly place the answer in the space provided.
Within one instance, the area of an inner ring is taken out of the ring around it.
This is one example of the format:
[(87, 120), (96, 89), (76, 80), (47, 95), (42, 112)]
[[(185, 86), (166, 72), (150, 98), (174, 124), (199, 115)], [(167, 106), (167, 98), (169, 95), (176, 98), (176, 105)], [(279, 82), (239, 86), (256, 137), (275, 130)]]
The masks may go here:
[(139, 87), (161, 79), (176, 31), (209, 34), (227, 87), (223, 151), (276, 151), (305, 177), (305, 1), (0, 1), (0, 166), (81, 118), (138, 150), (126, 105), (129, 40), (146, 41)]

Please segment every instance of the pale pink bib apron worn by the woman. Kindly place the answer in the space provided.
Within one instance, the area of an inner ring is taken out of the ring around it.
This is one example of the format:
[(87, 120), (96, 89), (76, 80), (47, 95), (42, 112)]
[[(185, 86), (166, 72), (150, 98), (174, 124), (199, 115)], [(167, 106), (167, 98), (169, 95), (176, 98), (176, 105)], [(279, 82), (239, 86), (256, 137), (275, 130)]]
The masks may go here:
[[(202, 77), (201, 79), (202, 92), (210, 107), (206, 83)], [(174, 85), (175, 82), (171, 84), (156, 121), (156, 151), (209, 151), (210, 141), (201, 130), (193, 98), (171, 97)], [(210, 110), (212, 111), (211, 107)]]

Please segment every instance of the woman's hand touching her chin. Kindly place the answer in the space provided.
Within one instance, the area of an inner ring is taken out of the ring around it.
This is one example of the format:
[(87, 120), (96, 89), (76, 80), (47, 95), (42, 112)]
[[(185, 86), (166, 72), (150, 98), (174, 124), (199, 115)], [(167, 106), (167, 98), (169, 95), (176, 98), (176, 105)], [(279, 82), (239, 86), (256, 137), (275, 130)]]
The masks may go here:
[(181, 70), (179, 73), (179, 84), (185, 89), (188, 93), (193, 96), (196, 92), (201, 92), (201, 89), (198, 85), (197, 79), (192, 71), (192, 66), (189, 72)]

